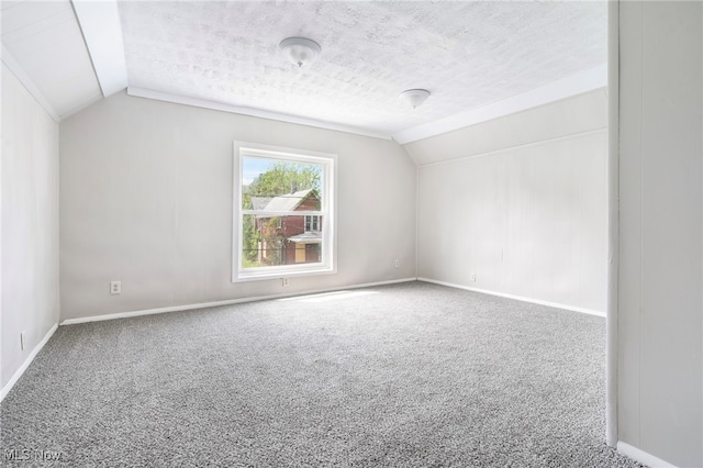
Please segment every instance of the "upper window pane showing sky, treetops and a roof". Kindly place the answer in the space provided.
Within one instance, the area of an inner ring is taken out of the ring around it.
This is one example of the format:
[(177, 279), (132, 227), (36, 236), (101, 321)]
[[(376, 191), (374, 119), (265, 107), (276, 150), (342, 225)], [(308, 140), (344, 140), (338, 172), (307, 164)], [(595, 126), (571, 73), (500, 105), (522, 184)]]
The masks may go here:
[(323, 165), (242, 157), (242, 208), (263, 211), (320, 210)]

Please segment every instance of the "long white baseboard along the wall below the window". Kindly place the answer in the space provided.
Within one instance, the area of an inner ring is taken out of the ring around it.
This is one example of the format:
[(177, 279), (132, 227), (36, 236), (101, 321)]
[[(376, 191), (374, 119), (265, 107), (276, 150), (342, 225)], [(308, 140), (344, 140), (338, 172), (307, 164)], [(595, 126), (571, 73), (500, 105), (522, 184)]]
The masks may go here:
[(215, 302), (201, 302), (197, 304), (186, 304), (186, 305), (174, 305), (170, 308), (159, 308), (159, 309), (145, 309), (140, 311), (132, 312), (120, 312), (112, 313), (107, 315), (92, 315), (92, 316), (83, 316), (79, 319), (66, 319), (59, 323), (59, 325), (76, 325), (78, 323), (88, 323), (88, 322), (102, 322), (104, 320), (115, 320), (115, 319), (129, 319), (132, 316), (142, 316), (142, 315), (153, 315), (157, 313), (167, 313), (167, 312), (181, 312), (189, 311), (193, 309), (204, 309), (204, 308), (214, 308), (219, 305), (231, 305), (231, 304), (242, 304), (245, 302), (257, 302), (257, 301), (267, 301), (270, 299), (281, 299), (281, 298), (293, 298), (297, 296), (309, 296), (309, 294), (320, 294), (322, 292), (331, 292), (331, 291), (342, 291), (345, 289), (359, 289), (359, 288), (371, 288), (375, 286), (384, 286), (384, 285), (395, 285), (399, 282), (410, 282), (416, 281), (417, 278), (402, 278), (402, 279), (393, 279), (388, 281), (377, 281), (377, 282), (366, 282), (360, 285), (352, 285), (352, 286), (341, 286), (334, 288), (324, 288), (324, 289), (314, 289), (310, 291), (297, 291), (289, 292), (282, 294), (268, 294), (268, 296), (255, 296), (250, 298), (239, 298), (239, 299), (228, 299), (226, 301), (215, 301)]

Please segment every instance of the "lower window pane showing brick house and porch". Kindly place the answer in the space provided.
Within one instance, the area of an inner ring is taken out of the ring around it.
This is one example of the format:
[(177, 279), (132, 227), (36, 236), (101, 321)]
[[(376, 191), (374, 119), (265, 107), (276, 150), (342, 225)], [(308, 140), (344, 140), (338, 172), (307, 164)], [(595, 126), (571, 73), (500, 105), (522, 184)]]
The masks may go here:
[[(321, 263), (322, 233), (305, 232), (305, 218), (242, 215), (242, 267)], [(322, 216), (319, 216), (319, 222), (322, 222)]]

